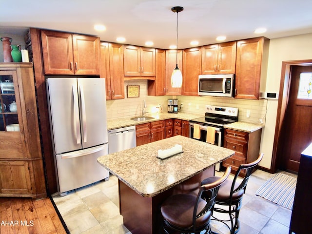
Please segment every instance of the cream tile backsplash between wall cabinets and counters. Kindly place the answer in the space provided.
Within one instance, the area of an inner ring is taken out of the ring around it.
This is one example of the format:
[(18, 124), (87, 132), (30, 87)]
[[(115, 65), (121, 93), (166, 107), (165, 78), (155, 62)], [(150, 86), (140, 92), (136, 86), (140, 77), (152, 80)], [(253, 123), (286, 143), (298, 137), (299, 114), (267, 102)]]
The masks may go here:
[[(127, 98), (127, 85), (139, 85), (139, 97)], [(167, 99), (177, 98), (179, 112), (205, 115), (206, 105), (216, 105), (224, 107), (236, 107), (239, 109), (238, 120), (246, 122), (265, 123), (267, 100), (248, 100), (223, 97), (193, 97), (193, 96), (148, 96), (147, 80), (126, 80), (125, 81), (125, 98), (119, 100), (107, 100), (107, 118), (124, 118), (140, 116), (142, 114), (143, 100), (146, 102), (147, 115), (159, 111), (156, 107), (161, 104), (162, 111), (167, 112)], [(183, 107), (181, 108), (181, 103)], [(250, 117), (247, 112), (250, 111)]]

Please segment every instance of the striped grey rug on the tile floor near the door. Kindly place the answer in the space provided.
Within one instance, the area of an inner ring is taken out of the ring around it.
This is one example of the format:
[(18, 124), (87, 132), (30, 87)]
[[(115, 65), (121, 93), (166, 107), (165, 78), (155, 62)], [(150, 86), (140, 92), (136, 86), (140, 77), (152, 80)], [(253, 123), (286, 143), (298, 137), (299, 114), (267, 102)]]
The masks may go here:
[(297, 179), (282, 173), (267, 180), (255, 193), (269, 201), (292, 210)]

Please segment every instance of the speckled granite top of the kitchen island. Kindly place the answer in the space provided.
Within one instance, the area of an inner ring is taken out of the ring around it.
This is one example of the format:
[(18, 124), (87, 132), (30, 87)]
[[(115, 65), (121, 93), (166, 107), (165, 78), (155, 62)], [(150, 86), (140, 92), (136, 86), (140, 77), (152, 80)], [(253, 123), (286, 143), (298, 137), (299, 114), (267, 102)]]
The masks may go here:
[[(183, 153), (159, 159), (158, 150), (182, 146)], [(175, 136), (98, 158), (98, 163), (139, 195), (155, 196), (201, 173), (234, 151), (183, 136)]]

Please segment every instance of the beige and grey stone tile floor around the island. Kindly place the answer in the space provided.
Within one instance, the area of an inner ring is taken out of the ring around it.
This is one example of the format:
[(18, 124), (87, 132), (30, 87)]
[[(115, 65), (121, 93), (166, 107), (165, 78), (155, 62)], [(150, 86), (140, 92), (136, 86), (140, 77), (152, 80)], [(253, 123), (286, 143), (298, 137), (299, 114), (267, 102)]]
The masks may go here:
[[(273, 174), (260, 170), (251, 176), (239, 215), (239, 234), (288, 234), (291, 210), (255, 196), (256, 190), (272, 176)], [(71, 234), (131, 234), (123, 226), (122, 216), (119, 215), (118, 184), (115, 176), (110, 176), (108, 181), (72, 191), (63, 197), (54, 195), (53, 200)], [(212, 221), (211, 225), (213, 231), (229, 234), (229, 230), (222, 223)]]

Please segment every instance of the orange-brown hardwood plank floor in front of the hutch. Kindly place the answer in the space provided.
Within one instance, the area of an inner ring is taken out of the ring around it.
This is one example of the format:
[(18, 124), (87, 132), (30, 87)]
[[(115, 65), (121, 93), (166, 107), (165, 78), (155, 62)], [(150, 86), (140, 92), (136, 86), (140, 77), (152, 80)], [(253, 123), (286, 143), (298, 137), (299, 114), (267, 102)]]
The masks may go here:
[(66, 234), (49, 197), (0, 197), (0, 234)]

